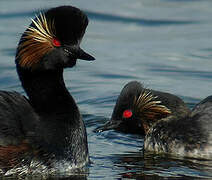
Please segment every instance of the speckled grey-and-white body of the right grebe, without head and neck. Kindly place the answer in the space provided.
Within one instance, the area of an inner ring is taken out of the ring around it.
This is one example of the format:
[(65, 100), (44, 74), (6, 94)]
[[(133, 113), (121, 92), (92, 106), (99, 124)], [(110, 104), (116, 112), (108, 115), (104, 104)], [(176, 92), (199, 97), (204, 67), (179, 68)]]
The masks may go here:
[(170, 116), (156, 122), (144, 140), (144, 150), (191, 158), (212, 158), (212, 96), (187, 116)]

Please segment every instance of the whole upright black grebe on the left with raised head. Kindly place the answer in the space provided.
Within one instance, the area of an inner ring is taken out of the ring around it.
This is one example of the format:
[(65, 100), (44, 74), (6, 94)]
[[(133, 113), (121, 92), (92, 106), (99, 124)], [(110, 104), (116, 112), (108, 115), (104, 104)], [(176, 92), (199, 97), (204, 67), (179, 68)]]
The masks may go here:
[(23, 33), (16, 68), (28, 98), (0, 91), (0, 169), (3, 174), (66, 172), (89, 161), (87, 134), (63, 69), (94, 60), (80, 48), (88, 25), (78, 8), (40, 13)]

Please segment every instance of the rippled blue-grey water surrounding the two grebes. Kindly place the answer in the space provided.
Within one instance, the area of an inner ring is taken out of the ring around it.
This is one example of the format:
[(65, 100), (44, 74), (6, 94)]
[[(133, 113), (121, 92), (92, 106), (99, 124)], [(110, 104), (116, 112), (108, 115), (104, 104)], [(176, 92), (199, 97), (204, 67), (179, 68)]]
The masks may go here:
[(131, 80), (176, 94), (191, 108), (212, 94), (212, 1), (1, 0), (0, 89), (24, 93), (14, 66), (20, 35), (37, 10), (64, 4), (87, 13), (82, 47), (97, 59), (65, 71), (88, 132), (92, 164), (82, 179), (212, 178), (211, 161), (143, 155), (142, 137), (93, 132)]

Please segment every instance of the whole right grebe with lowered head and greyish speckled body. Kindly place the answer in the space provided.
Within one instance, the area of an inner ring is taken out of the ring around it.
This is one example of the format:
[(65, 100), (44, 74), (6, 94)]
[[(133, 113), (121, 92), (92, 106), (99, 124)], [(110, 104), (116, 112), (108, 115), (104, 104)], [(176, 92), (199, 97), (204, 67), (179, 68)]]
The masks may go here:
[(110, 129), (144, 135), (144, 152), (211, 159), (212, 96), (190, 110), (177, 96), (132, 81), (122, 89), (111, 120), (96, 131)]

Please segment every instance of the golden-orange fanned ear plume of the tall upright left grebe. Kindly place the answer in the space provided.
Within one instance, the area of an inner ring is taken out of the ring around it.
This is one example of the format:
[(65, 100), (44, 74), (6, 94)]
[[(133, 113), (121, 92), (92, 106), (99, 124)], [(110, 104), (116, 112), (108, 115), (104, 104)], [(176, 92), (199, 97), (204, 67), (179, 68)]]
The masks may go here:
[(55, 38), (54, 21), (47, 20), (45, 15), (40, 13), (35, 20), (32, 19), (33, 26), (30, 26), (24, 33), (23, 42), (19, 45), (18, 58), (22, 67), (34, 67), (40, 59), (54, 46)]

